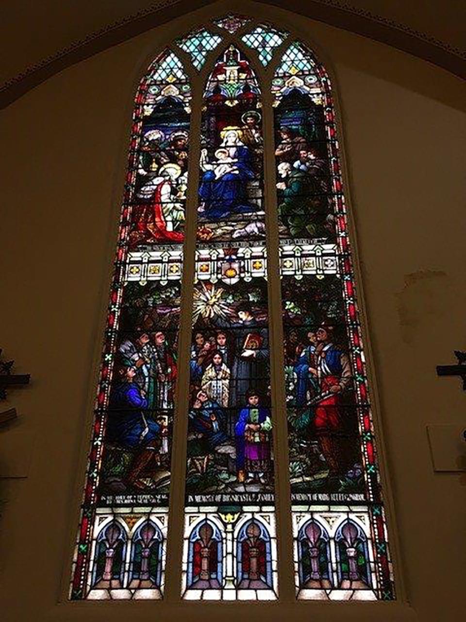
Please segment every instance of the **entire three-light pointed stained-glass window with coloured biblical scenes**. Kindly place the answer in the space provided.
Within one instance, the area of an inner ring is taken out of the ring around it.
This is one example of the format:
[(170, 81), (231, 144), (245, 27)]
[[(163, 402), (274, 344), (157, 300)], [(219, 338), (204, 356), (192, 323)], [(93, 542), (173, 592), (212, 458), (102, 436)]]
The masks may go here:
[(291, 560), (300, 600), (395, 598), (345, 193), (291, 31), (221, 15), (151, 63), (71, 599), (280, 600)]

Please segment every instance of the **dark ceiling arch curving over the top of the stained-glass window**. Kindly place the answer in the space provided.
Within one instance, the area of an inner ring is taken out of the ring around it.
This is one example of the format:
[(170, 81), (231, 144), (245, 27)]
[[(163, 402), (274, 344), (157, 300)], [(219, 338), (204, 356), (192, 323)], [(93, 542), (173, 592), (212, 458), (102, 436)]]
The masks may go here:
[[(211, 0), (214, 2), (214, 0)], [(170, 11), (167, 11), (170, 4)], [(205, 5), (201, 0), (192, 0), (191, 10)], [(267, 6), (268, 2), (262, 2), (265, 11), (270, 14), (273, 7)], [(275, 6), (277, 2), (273, 3)], [(386, 2), (385, 11), (380, 6), (378, 14), (361, 10), (360, 7), (352, 6), (345, 2), (344, 8), (339, 0), (314, 0), (313, 2), (301, 2), (295, 12), (299, 16), (307, 17), (315, 21), (323, 22), (340, 29), (359, 34), (395, 49), (407, 52), (428, 62), (434, 63), (447, 71), (460, 77), (466, 76), (466, 62), (463, 40), (459, 39), (459, 28), (456, 24), (464, 21), (461, 11), (462, 3), (450, 2), (441, 4), (438, 2), (437, 11), (442, 19), (433, 21), (429, 12), (409, 12), (403, 4)], [(52, 10), (53, 8), (53, 10)], [(290, 6), (283, 2), (284, 9)], [(65, 17), (60, 15), (62, 7), (55, 4), (49, 7), (47, 19), (49, 22), (60, 23)], [(27, 91), (39, 85), (48, 78), (71, 65), (85, 60), (132, 39), (138, 34), (160, 27), (170, 19), (183, 16), (185, 6), (182, 2), (157, 2), (149, 9), (132, 11), (132, 6), (112, 5), (112, 15), (88, 7), (86, 19), (76, 7), (76, 19), (72, 19), (73, 27), (67, 30), (68, 37), (59, 42), (55, 37), (34, 39), (33, 34), (37, 29), (37, 19), (34, 12), (28, 12), (21, 16), (21, 23), (11, 20), (12, 27), (16, 26), (17, 32), (29, 41), (27, 55), (9, 55), (8, 62), (4, 63), (5, 71), (0, 84), (0, 106), (8, 106)], [(18, 20), (18, 16), (14, 16)], [(68, 16), (69, 17), (69, 16)], [(144, 17), (144, 19), (141, 19)], [(239, 16), (240, 26), (247, 16)], [(223, 19), (224, 16), (220, 18)], [(226, 18), (224, 18), (226, 19)], [(243, 21), (242, 21), (243, 20)], [(224, 22), (226, 26), (218, 24), (227, 32), (236, 27), (237, 22)], [(447, 30), (445, 30), (445, 24)], [(447, 36), (447, 31), (448, 35)], [(462, 34), (462, 33), (461, 33)]]

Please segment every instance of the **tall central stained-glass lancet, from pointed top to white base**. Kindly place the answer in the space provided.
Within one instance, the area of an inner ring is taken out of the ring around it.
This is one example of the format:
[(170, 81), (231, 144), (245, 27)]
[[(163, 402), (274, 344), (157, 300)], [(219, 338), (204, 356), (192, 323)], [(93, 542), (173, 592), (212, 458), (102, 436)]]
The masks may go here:
[(260, 90), (230, 46), (204, 91), (183, 598), (273, 600), (276, 536)]

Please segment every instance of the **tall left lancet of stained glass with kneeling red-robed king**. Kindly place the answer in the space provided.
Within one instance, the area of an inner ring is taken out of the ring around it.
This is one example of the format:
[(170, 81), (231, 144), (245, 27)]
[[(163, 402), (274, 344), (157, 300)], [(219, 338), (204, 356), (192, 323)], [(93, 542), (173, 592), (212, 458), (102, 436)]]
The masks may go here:
[(191, 90), (169, 50), (135, 98), (70, 598), (162, 598)]

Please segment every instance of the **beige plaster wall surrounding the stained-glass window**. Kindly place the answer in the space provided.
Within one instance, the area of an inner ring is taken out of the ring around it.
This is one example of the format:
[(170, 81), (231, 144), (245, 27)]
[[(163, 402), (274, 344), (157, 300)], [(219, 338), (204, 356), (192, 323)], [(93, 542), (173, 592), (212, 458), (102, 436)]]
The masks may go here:
[[(308, 34), (336, 77), (399, 573), (413, 607), (316, 605), (293, 615), (457, 621), (466, 480), (434, 474), (426, 424), (465, 422), (459, 380), (435, 374), (466, 346), (465, 85), (343, 30), (275, 9), (268, 16)], [(151, 53), (190, 24), (185, 17), (68, 68), (2, 114), (0, 346), (18, 373), (32, 374), (31, 386), (10, 391), (1, 405), (21, 417), (0, 433), (0, 467), (27, 475), (0, 479), (5, 622), (139, 620), (158, 611), (58, 601), (78, 520), (132, 91)], [(281, 617), (291, 607), (273, 611)], [(224, 611), (224, 619), (235, 616)], [(172, 608), (175, 615), (183, 610)], [(212, 609), (202, 615), (217, 618)]]

